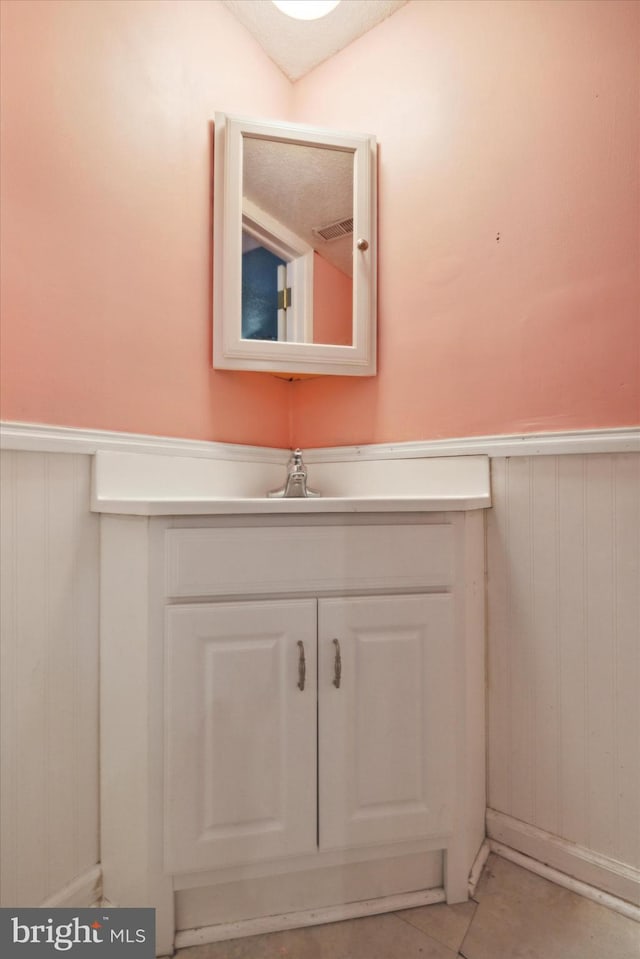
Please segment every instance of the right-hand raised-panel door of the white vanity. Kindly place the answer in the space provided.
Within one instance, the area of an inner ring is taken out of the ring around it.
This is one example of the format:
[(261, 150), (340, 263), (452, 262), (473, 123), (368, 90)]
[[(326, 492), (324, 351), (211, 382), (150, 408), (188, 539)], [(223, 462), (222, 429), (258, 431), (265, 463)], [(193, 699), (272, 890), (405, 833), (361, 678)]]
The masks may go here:
[(450, 831), (452, 606), (449, 594), (319, 601), (321, 849)]

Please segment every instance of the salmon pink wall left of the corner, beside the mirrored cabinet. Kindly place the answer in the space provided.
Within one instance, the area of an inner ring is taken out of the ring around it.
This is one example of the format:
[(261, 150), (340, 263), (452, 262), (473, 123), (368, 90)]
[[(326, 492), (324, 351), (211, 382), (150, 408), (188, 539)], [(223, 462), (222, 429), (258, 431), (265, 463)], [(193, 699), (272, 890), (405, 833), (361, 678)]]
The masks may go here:
[(288, 385), (211, 369), (211, 120), (291, 85), (221, 3), (1, 10), (2, 418), (287, 445)]

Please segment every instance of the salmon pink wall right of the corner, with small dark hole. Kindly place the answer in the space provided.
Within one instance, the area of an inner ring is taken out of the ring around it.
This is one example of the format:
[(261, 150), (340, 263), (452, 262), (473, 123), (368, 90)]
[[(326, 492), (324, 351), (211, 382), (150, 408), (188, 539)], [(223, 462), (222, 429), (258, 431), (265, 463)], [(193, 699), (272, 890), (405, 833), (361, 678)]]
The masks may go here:
[(410, 2), (299, 81), (379, 141), (379, 375), (293, 385), (302, 446), (640, 420), (640, 4)]

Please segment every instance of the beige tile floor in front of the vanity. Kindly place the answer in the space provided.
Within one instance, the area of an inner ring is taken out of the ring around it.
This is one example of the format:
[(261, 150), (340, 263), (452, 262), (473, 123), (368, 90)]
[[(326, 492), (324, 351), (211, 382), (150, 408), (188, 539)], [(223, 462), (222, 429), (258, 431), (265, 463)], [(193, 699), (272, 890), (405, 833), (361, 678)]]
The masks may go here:
[(473, 902), (180, 949), (177, 959), (640, 959), (640, 924), (490, 856)]

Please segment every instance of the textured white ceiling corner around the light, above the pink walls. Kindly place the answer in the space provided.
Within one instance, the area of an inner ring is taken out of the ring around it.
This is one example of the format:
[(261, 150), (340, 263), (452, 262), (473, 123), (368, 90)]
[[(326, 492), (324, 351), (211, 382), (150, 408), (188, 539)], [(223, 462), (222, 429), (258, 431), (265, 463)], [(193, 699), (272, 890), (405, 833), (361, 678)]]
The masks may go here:
[(271, 0), (223, 0), (290, 80), (299, 80), (407, 0), (342, 0), (321, 20), (293, 20)]

